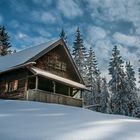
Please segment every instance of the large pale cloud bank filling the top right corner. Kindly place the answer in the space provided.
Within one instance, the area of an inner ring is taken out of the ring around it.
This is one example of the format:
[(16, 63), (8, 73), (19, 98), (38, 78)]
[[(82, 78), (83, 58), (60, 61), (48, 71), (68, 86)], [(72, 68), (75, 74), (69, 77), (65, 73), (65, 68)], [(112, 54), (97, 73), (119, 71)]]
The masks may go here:
[(140, 25), (139, 0), (87, 0), (91, 15), (106, 21), (124, 20)]

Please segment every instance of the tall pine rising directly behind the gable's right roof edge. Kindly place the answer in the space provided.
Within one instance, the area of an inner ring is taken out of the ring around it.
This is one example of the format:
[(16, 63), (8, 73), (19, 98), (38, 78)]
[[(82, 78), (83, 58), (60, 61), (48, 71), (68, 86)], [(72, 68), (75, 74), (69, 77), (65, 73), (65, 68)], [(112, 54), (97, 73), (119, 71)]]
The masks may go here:
[(86, 81), (86, 48), (83, 45), (83, 39), (79, 27), (76, 31), (72, 55), (79, 72)]

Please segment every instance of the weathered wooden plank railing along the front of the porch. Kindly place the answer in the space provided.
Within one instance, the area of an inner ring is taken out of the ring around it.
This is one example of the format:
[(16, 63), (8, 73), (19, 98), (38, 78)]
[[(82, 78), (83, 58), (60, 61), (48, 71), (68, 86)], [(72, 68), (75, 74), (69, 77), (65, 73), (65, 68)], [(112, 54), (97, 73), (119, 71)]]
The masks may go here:
[(29, 89), (25, 97), (26, 100), (29, 101), (56, 103), (77, 107), (82, 107), (83, 103), (82, 99), (75, 99), (70, 96), (35, 89)]

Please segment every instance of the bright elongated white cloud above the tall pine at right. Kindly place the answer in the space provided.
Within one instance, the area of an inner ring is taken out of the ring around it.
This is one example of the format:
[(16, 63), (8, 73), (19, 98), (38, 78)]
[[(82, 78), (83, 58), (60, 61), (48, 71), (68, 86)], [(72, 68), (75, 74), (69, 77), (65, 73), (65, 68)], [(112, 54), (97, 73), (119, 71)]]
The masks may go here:
[(138, 46), (140, 42), (140, 38), (138, 36), (125, 35), (119, 32), (116, 32), (113, 35), (113, 38), (118, 43), (121, 43), (127, 46)]

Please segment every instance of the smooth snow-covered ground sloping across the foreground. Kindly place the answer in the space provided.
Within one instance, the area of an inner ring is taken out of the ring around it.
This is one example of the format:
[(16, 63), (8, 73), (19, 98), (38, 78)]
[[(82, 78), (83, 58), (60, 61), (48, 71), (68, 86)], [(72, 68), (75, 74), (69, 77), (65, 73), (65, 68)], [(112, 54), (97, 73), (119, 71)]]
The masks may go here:
[(0, 140), (139, 139), (139, 119), (56, 104), (0, 100)]

